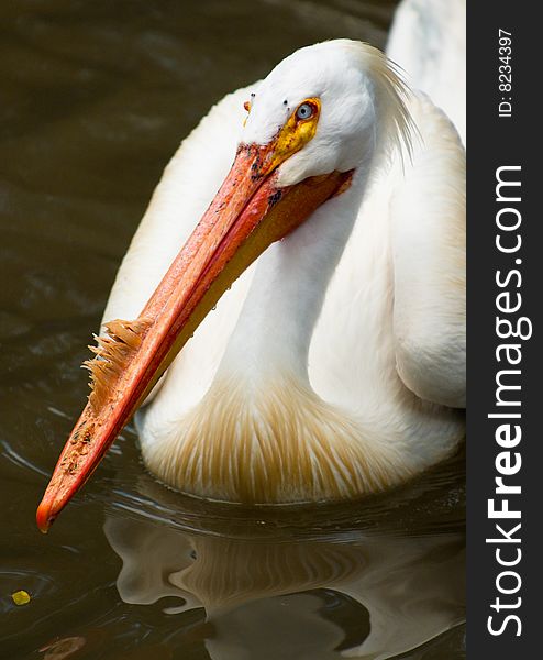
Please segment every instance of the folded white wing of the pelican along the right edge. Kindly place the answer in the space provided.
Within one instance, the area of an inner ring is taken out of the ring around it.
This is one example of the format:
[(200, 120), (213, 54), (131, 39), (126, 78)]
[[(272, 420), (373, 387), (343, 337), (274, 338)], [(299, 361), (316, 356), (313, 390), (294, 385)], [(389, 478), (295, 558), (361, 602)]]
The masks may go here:
[(425, 400), (465, 405), (465, 151), (426, 97), (410, 103), (421, 143), (390, 202), (397, 370)]

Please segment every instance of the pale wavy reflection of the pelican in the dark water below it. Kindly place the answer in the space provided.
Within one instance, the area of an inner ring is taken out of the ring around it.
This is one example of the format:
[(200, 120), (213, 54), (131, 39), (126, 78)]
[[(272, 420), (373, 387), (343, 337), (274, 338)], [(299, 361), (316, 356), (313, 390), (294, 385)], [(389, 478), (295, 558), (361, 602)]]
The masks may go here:
[(119, 594), (177, 597), (170, 615), (203, 608), (212, 660), (384, 660), (464, 619), (462, 534), (372, 529), (361, 505), (251, 510), (142, 486), (177, 512), (169, 524), (109, 514)]

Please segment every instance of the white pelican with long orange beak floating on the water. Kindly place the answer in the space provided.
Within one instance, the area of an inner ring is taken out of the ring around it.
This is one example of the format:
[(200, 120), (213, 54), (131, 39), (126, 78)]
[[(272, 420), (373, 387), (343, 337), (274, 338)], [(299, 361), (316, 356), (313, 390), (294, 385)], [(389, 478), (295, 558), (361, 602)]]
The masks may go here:
[(167, 367), (136, 425), (148, 470), (186, 493), (354, 498), (451, 454), (464, 167), (447, 117), (359, 42), (301, 48), (212, 108), (119, 271), (40, 528)]

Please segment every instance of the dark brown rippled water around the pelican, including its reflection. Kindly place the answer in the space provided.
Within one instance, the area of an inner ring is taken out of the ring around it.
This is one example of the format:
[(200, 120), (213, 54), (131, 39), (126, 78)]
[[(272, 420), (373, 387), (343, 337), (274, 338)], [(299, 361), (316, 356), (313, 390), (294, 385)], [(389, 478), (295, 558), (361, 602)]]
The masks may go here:
[(300, 45), (383, 46), (392, 6), (0, 4), (2, 659), (464, 658), (462, 455), (364, 503), (246, 510), (156, 484), (129, 429), (52, 532), (34, 524), (85, 346), (179, 140)]

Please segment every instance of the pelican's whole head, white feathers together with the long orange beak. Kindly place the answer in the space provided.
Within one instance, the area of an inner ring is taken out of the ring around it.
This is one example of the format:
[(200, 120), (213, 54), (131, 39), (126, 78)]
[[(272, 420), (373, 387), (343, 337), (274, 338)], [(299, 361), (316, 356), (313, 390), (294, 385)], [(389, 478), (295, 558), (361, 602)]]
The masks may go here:
[[(347, 40), (281, 62), (247, 100), (233, 164), (136, 321), (107, 323), (92, 392), (37, 512), (46, 530), (224, 290), (273, 242), (341, 195), (355, 169), (409, 136), (403, 87), (377, 50)], [(407, 140), (408, 141), (408, 140)]]

